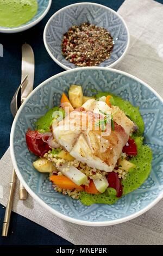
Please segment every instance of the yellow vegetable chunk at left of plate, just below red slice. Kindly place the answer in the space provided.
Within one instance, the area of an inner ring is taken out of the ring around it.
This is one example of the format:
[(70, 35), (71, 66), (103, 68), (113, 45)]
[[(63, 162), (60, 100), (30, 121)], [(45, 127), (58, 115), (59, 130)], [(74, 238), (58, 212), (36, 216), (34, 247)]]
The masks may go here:
[(48, 161), (46, 158), (42, 157), (33, 162), (33, 166), (40, 173), (51, 173), (56, 170), (52, 162)]

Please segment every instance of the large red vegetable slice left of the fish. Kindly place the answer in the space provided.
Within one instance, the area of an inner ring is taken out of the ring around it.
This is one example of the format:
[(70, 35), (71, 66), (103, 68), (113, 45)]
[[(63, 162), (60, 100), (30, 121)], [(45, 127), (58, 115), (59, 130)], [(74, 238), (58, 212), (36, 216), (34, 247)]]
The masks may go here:
[(49, 150), (52, 150), (51, 148), (49, 148), (47, 142), (43, 142), (42, 137), (43, 133), (40, 133), (38, 131), (31, 131), (30, 129), (28, 129), (26, 133), (26, 142), (29, 151), (31, 151), (36, 156), (41, 157)]

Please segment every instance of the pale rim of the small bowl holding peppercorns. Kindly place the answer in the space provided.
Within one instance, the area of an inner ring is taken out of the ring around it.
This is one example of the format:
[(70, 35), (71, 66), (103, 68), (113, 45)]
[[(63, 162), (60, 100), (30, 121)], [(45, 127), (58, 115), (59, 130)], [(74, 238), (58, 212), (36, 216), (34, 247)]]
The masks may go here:
[(102, 4), (97, 4), (97, 3), (87, 3), (87, 2), (83, 2), (83, 3), (75, 3), (75, 4), (70, 4), (70, 5), (67, 5), (65, 6), (64, 8), (61, 8), (60, 10), (58, 10), (56, 13), (54, 13), (51, 18), (48, 20), (48, 22), (46, 23), (46, 26), (45, 26), (45, 29), (43, 31), (43, 42), (44, 42), (44, 45), (45, 45), (45, 48), (49, 54), (49, 56), (51, 56), (51, 58), (54, 60), (55, 63), (57, 63), (59, 66), (61, 66), (61, 68), (65, 69), (65, 70), (71, 70), (71, 69), (74, 69), (74, 68), (69, 68), (68, 66), (62, 64), (57, 58), (55, 58), (52, 54), (52, 52), (49, 50), (49, 47), (48, 47), (48, 44), (47, 44), (47, 41), (46, 41), (46, 32), (47, 32), (47, 28), (49, 26), (49, 23), (51, 22), (51, 20), (53, 19), (53, 17), (55, 17), (56, 15), (58, 15), (59, 13), (61, 13), (61, 11), (63, 10), (66, 10), (70, 7), (73, 7), (73, 6), (76, 6), (76, 5), (82, 5), (82, 4), (88, 4), (88, 5), (96, 5), (96, 6), (99, 6), (99, 7), (103, 7), (107, 10), (110, 10), (112, 13), (116, 14), (120, 20), (123, 22), (124, 24), (124, 27), (126, 28), (126, 31), (127, 31), (127, 45), (126, 45), (126, 49), (124, 50), (122, 56), (120, 58), (118, 58), (114, 63), (108, 65), (108, 66), (105, 66), (105, 68), (111, 68), (112, 66), (115, 66), (118, 62), (120, 62), (122, 60), (122, 58), (126, 55), (126, 52), (128, 50), (128, 47), (129, 47), (129, 43), (130, 43), (130, 34), (129, 34), (129, 29), (127, 27), (127, 24), (126, 22), (123, 20), (123, 18), (121, 17), (120, 14), (118, 14), (115, 10), (112, 10), (111, 8), (109, 7), (106, 7), (105, 5), (102, 5)]

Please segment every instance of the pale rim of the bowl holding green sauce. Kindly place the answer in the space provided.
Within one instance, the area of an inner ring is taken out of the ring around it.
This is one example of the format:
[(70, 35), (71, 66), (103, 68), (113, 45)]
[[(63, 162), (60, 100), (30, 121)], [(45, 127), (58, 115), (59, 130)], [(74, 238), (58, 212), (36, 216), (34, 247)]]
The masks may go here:
[[(18, 33), (18, 32), (22, 32), (22, 31), (26, 31), (27, 29), (35, 26), (37, 23), (39, 23), (48, 13), (49, 9), (51, 8), (51, 4), (52, 4), (52, 0), (48, 0), (49, 3), (48, 3), (48, 6), (47, 8), (45, 9), (45, 11), (43, 11), (43, 14), (41, 16), (39, 16), (35, 21), (33, 22), (30, 22), (29, 24), (27, 25), (21, 25), (19, 27), (14, 27), (14, 28), (0, 28), (0, 33), (8, 33), (8, 34), (11, 34), (11, 33)], [(25, 23), (26, 24), (26, 23)]]

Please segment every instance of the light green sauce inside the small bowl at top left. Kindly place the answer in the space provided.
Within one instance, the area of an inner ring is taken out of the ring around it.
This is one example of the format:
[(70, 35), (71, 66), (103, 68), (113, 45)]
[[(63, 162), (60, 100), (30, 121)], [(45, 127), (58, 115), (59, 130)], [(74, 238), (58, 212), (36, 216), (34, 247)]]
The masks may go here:
[(36, 0), (0, 0), (0, 26), (18, 27), (37, 13)]

